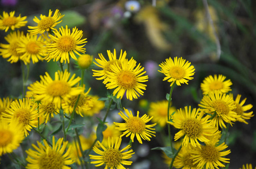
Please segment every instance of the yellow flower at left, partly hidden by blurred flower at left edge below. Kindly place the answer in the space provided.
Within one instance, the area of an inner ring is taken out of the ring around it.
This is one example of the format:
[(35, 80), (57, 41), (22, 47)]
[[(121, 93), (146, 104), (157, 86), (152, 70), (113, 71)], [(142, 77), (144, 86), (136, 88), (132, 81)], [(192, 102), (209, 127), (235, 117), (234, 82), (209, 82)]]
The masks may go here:
[(2, 120), (10, 123), (18, 119), (18, 122), (24, 126), (25, 136), (28, 136), (28, 131), (31, 131), (32, 127), (37, 127), (39, 114), (36, 108), (36, 104), (32, 105), (29, 98), (19, 99), (19, 102), (12, 101), (6, 113), (2, 113)]

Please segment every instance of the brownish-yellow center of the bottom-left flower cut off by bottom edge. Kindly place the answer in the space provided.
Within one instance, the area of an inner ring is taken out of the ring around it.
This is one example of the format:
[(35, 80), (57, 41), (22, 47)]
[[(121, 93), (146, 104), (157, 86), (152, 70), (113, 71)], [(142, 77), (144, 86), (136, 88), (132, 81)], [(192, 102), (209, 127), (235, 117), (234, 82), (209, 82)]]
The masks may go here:
[(57, 152), (54, 152), (52, 149), (48, 151), (48, 149), (46, 150), (46, 154), (42, 155), (42, 157), (39, 159), (39, 168), (62, 168), (64, 164), (64, 158), (62, 157), (62, 155)]

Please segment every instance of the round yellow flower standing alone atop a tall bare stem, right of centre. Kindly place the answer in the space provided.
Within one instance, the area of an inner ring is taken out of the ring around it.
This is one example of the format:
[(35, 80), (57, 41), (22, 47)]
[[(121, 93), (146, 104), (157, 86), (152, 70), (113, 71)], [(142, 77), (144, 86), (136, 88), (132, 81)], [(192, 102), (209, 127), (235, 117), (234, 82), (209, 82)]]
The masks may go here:
[(193, 65), (190, 65), (189, 61), (182, 59), (182, 57), (174, 57), (174, 61), (171, 57), (166, 59), (165, 62), (161, 63), (159, 66), (161, 70), (158, 70), (161, 73), (164, 73), (166, 76), (163, 81), (172, 82), (170, 86), (173, 85), (174, 82), (178, 86), (181, 86), (181, 83), (186, 83), (193, 79), (191, 77), (195, 74), (195, 68)]

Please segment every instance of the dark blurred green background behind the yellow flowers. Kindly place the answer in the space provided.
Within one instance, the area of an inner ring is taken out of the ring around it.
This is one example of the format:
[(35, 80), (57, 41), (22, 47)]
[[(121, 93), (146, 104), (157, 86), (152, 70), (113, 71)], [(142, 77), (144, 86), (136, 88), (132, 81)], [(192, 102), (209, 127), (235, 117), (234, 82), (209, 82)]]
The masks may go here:
[[(205, 2), (208, 2), (207, 4)], [(208, 10), (206, 10), (208, 6)], [(156, 0), (136, 1), (33, 1), (1, 0), (0, 14), (15, 11), (16, 15), (27, 16), (27, 25), (35, 25), (33, 18), (47, 15), (49, 9), (61, 11), (62, 23), (83, 30), (87, 38), (86, 53), (98, 57), (106, 56), (106, 50), (127, 52), (141, 63), (149, 76), (144, 95), (133, 102), (123, 99), (123, 105), (143, 113), (149, 103), (163, 100), (169, 92), (169, 83), (163, 82), (163, 75), (157, 72), (159, 64), (168, 57), (182, 56), (195, 66), (195, 75), (189, 86), (177, 87), (172, 96), (176, 108), (186, 105), (196, 107), (202, 99), (200, 83), (208, 75), (223, 74), (232, 81), (234, 95), (246, 97), (246, 103), (256, 103), (256, 22), (255, 2), (251, 0)], [(210, 16), (210, 17), (209, 17)], [(27, 26), (20, 30), (27, 31)], [(0, 32), (0, 42), (6, 43), (4, 31)], [(50, 61), (31, 64), (27, 84), (39, 80), (46, 71), (52, 75), (59, 68)], [(71, 68), (75, 67), (74, 61)], [(74, 70), (76, 71), (76, 70)], [(0, 96), (18, 97), (22, 94), (22, 73), (20, 63), (10, 64), (0, 58)], [(79, 74), (78, 72), (74, 72)], [(105, 97), (106, 88), (85, 74), (86, 86), (91, 93)], [(144, 99), (144, 100), (142, 100)], [(242, 98), (244, 99), (244, 98)], [(146, 102), (145, 102), (146, 100)], [(255, 105), (253, 107), (255, 112)], [(249, 124), (235, 123), (230, 128), (227, 144), (231, 149), (228, 158), (230, 168), (252, 163), (256, 166), (256, 119)], [(154, 145), (155, 144), (155, 145)], [(158, 146), (157, 135), (151, 144), (140, 146), (133, 168), (162, 168), (161, 152), (150, 148)], [(143, 146), (143, 147), (142, 147)], [(1, 162), (2, 163), (2, 162)]]

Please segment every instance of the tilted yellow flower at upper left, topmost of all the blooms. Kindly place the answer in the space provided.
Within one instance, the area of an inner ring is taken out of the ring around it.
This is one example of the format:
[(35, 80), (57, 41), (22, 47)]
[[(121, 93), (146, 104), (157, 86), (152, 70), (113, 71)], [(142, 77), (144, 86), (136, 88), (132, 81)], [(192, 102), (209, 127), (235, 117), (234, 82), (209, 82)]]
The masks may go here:
[(42, 34), (45, 32), (49, 32), (50, 30), (56, 30), (56, 28), (54, 28), (57, 24), (61, 23), (61, 21), (59, 21), (60, 19), (62, 19), (62, 17), (64, 15), (61, 15), (61, 13), (59, 13), (59, 10), (56, 10), (52, 16), (53, 11), (49, 10), (49, 15), (45, 16), (45, 15), (40, 15), (40, 19), (39, 20), (36, 16), (33, 19), (33, 21), (35, 21), (35, 23), (37, 23), (37, 26), (28, 26), (29, 29), (28, 32), (30, 32), (31, 34)]

